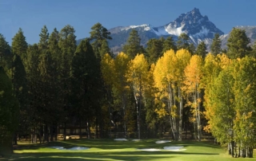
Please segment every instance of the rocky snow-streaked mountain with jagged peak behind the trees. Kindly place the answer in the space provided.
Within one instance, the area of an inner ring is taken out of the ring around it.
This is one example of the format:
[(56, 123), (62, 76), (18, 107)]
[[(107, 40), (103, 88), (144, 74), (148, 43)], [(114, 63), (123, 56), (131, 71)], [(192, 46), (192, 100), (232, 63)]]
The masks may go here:
[(194, 10), (186, 14), (181, 14), (173, 22), (165, 26), (154, 27), (150, 24), (143, 24), (140, 26), (118, 26), (109, 29), (111, 37), (113, 37), (113, 40), (109, 41), (110, 48), (114, 51), (121, 50), (122, 45), (126, 43), (129, 37), (131, 29), (138, 30), (142, 45), (146, 45), (150, 38), (172, 36), (176, 39), (181, 33), (186, 33), (194, 45), (198, 45), (201, 41), (205, 41), (206, 45), (210, 45), (215, 33), (224, 34), (213, 22), (210, 22), (207, 16), (202, 16), (200, 11), (194, 8)]

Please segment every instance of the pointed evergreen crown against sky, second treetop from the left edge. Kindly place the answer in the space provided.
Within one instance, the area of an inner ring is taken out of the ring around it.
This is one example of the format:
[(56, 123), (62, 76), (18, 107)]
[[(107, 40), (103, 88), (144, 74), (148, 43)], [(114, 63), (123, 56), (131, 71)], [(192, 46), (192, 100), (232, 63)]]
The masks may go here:
[(23, 60), (26, 57), (27, 43), (21, 28), (18, 29), (18, 33), (15, 34), (12, 40), (12, 52), (18, 54)]

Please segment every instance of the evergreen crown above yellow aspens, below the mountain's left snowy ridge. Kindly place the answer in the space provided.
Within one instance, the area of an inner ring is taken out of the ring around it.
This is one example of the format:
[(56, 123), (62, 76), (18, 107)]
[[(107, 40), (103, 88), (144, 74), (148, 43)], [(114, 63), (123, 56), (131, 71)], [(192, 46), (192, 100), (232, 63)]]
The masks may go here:
[(138, 36), (138, 31), (132, 29), (130, 36), (126, 41), (126, 45), (123, 46), (122, 50), (124, 53), (133, 59), (138, 53), (145, 53), (141, 44), (141, 38)]

